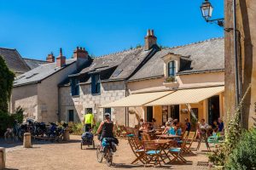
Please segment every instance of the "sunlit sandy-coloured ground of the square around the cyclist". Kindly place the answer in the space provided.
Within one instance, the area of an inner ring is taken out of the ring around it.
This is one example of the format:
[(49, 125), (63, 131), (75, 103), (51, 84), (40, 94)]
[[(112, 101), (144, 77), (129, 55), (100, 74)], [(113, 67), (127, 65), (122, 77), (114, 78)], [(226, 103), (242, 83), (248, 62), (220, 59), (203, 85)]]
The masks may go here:
[[(144, 167), (142, 163), (131, 165), (131, 161), (135, 159), (135, 156), (128, 141), (125, 139), (119, 139), (118, 150), (113, 156), (113, 167), (108, 167), (104, 161), (98, 163), (96, 161), (96, 150), (91, 148), (81, 150), (79, 136), (71, 136), (71, 141), (68, 143), (34, 142), (32, 149), (24, 149), (20, 143), (11, 145), (3, 144), (1, 141), (0, 146), (7, 147), (6, 166), (9, 170), (155, 169), (154, 167)], [(205, 150), (205, 144), (202, 144), (201, 148)], [(207, 152), (199, 151), (195, 156), (184, 157), (190, 161), (189, 164), (166, 165), (157, 167), (157, 169), (207, 169), (206, 166), (197, 166), (198, 161), (207, 161)]]

